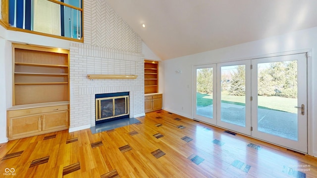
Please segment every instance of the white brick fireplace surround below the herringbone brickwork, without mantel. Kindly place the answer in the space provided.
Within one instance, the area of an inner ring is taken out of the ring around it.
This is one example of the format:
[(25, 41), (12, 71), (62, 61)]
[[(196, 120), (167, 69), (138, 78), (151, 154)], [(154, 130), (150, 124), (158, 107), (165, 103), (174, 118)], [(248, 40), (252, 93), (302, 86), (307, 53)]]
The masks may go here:
[[(144, 116), (144, 56), (87, 44), (70, 45), (69, 132), (95, 126), (95, 94), (130, 92), (130, 118)], [(138, 75), (137, 79), (88, 79), (88, 74)]]

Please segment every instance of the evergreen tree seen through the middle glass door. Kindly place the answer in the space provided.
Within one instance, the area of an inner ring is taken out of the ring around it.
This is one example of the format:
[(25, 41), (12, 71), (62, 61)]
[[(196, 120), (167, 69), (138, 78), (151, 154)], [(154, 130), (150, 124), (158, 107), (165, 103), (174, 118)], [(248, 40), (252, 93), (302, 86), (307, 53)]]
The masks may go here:
[(237, 71), (234, 71), (233, 74), (231, 74), (230, 88), (228, 91), (230, 95), (243, 96), (246, 93), (245, 65), (239, 65), (236, 69)]

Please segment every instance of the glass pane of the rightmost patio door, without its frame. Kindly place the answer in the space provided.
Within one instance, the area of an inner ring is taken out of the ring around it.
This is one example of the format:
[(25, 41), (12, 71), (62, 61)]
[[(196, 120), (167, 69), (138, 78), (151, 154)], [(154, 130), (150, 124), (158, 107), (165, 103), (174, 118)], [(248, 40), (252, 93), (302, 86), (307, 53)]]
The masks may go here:
[(258, 130), (298, 140), (297, 61), (258, 64)]

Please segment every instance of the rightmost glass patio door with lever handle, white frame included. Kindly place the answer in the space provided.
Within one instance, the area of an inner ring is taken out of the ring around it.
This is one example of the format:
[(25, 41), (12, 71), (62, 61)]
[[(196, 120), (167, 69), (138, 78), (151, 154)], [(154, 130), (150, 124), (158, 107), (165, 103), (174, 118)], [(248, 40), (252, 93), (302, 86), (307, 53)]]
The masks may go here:
[(253, 63), (253, 81), (257, 84), (253, 94), (253, 136), (306, 153), (305, 54), (254, 59)]

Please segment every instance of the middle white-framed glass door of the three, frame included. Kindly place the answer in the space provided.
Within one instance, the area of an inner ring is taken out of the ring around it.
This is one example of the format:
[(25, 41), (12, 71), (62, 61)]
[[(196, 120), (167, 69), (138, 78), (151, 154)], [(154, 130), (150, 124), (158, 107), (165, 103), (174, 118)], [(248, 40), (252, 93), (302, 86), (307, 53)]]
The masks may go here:
[(250, 60), (218, 65), (218, 120), (220, 127), (251, 134)]

